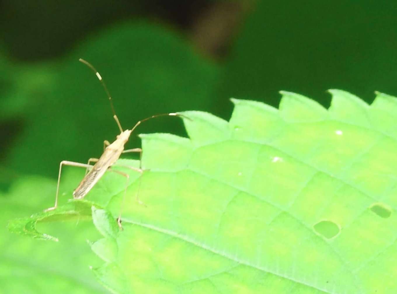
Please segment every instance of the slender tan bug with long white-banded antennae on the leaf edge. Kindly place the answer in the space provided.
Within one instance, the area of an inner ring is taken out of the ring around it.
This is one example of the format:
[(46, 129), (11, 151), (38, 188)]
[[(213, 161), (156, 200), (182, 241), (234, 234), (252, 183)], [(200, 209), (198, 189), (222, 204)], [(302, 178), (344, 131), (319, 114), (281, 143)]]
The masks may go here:
[[(58, 206), (58, 193), (59, 193), (59, 183), (60, 183), (60, 178), (61, 178), (61, 172), (62, 172), (62, 166), (63, 165), (70, 165), (70, 166), (77, 166), (77, 167), (85, 167), (86, 168), (86, 175), (85, 177), (81, 180), (80, 184), (77, 186), (77, 188), (73, 191), (73, 199), (82, 199), (85, 197), (85, 195), (87, 195), (87, 193), (93, 188), (93, 186), (99, 181), (99, 179), (102, 177), (102, 175), (104, 175), (104, 173), (106, 171), (113, 171), (115, 173), (118, 173), (119, 175), (124, 176), (127, 179), (126, 185), (125, 185), (125, 189), (124, 189), (124, 196), (123, 199), (125, 197), (125, 193), (127, 190), (127, 186), (129, 183), (129, 175), (127, 173), (123, 173), (121, 171), (116, 171), (114, 169), (112, 169), (112, 165), (114, 165), (114, 163), (117, 161), (117, 159), (119, 159), (120, 155), (122, 153), (127, 153), (127, 152), (139, 152), (140, 154), (142, 154), (142, 149), (141, 148), (133, 148), (133, 149), (127, 149), (124, 150), (124, 145), (125, 143), (128, 141), (129, 136), (131, 136), (131, 134), (133, 133), (133, 131), (144, 121), (147, 121), (149, 119), (152, 119), (154, 117), (159, 117), (159, 116), (165, 116), (165, 115), (169, 115), (169, 116), (180, 116), (180, 117), (185, 117), (184, 115), (180, 114), (180, 113), (161, 113), (161, 114), (157, 114), (157, 115), (152, 115), (150, 117), (146, 117), (145, 119), (142, 119), (140, 121), (138, 121), (134, 127), (130, 130), (125, 130), (123, 131), (123, 129), (121, 128), (119, 119), (116, 115), (116, 112), (114, 111), (114, 106), (113, 106), (113, 102), (112, 102), (112, 96), (110, 96), (110, 93), (108, 91), (108, 88), (106, 87), (105, 82), (103, 81), (101, 75), (98, 73), (98, 71), (93, 67), (93, 65), (91, 65), (91, 63), (83, 60), (83, 59), (79, 59), (79, 61), (81, 61), (82, 63), (84, 63), (85, 65), (87, 65), (89, 68), (91, 68), (96, 77), (98, 77), (98, 80), (100, 81), (102, 87), (104, 88), (106, 95), (108, 96), (108, 100), (110, 102), (110, 106), (112, 108), (112, 112), (113, 112), (113, 118), (116, 121), (119, 130), (120, 130), (120, 135), (116, 136), (116, 140), (113, 143), (108, 142), (107, 140), (104, 141), (104, 152), (103, 154), (100, 156), (100, 158), (90, 158), (88, 160), (88, 163), (79, 163), (79, 162), (74, 162), (74, 161), (67, 161), (67, 160), (63, 160), (60, 163), (60, 167), (59, 167), (59, 173), (58, 173), (58, 184), (56, 186), (56, 195), (55, 195), (55, 204), (53, 207), (51, 208), (47, 208), (45, 211), (50, 211), (53, 209), (56, 209)], [(187, 117), (186, 117), (187, 118)], [(140, 156), (141, 158), (141, 156)], [(91, 165), (91, 162), (95, 162), (94, 165)], [(143, 173), (143, 169), (141, 168), (141, 164), (139, 168), (136, 167), (131, 167), (131, 166), (127, 166), (127, 165), (118, 165), (118, 166), (122, 166), (122, 167), (127, 167), (129, 169), (133, 169), (134, 171), (137, 171), (139, 173)], [(137, 192), (137, 201), (140, 204), (143, 204), (143, 202), (141, 202), (139, 200), (139, 188), (138, 188), (138, 192)], [(117, 219), (117, 223), (119, 225), (119, 227), (121, 228), (121, 211), (119, 214), (119, 217)]]

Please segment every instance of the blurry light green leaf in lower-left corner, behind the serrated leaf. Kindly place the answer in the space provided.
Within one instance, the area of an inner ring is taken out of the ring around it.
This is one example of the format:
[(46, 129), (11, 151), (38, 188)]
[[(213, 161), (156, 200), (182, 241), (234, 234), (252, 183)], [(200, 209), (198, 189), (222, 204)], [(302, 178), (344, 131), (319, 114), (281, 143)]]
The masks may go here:
[[(75, 180), (71, 173), (66, 177), (72, 182)], [(109, 293), (89, 271), (89, 265), (98, 266), (101, 261), (86, 242), (87, 239), (99, 238), (92, 222), (85, 221), (86, 216), (62, 215), (62, 209), (59, 209), (37, 213), (37, 218), (23, 218), (54, 204), (55, 190), (56, 182), (53, 180), (23, 177), (10, 186), (9, 192), (0, 195), (0, 292)], [(76, 210), (76, 206), (78, 211), (87, 212), (77, 203), (67, 205), (70, 211)], [(91, 219), (91, 205), (88, 211)], [(13, 220), (10, 224), (9, 220), (15, 217), (19, 218), (19, 222)], [(40, 218), (41, 221), (37, 221)], [(26, 222), (21, 223), (21, 219)], [(33, 238), (8, 232), (7, 223), (15, 231), (23, 228), (19, 233)], [(59, 242), (43, 242), (40, 239), (59, 239)]]

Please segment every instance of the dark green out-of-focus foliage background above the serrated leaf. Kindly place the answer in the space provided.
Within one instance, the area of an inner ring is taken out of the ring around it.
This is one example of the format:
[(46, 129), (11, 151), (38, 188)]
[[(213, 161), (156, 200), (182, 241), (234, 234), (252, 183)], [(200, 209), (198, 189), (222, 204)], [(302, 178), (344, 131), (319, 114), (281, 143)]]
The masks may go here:
[[(368, 0), (0, 1), (3, 215), (52, 206), (53, 190), (22, 189), (21, 179), (56, 179), (61, 160), (98, 157), (118, 135), (100, 83), (79, 58), (101, 73), (124, 129), (164, 112), (229, 119), (229, 98), (278, 106), (279, 90), (329, 106), (326, 90), (340, 88), (370, 103), (374, 90), (397, 94), (395, 15), (395, 2)], [(127, 148), (152, 132), (185, 135), (178, 118), (153, 119)], [(11, 210), (15, 193), (29, 197), (29, 209), (18, 210), (18, 200)], [(22, 238), (4, 234), (15, 244)]]

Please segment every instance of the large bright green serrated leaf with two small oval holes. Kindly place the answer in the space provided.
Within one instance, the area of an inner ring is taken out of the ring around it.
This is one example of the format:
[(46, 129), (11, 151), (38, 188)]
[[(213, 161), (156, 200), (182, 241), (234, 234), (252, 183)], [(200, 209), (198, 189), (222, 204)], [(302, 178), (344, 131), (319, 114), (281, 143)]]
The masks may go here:
[(91, 244), (104, 260), (93, 268), (101, 284), (114, 293), (397, 292), (397, 98), (377, 93), (367, 105), (330, 92), (329, 110), (281, 92), (280, 110), (234, 99), (229, 122), (184, 112), (189, 139), (142, 135), (145, 171), (131, 173), (126, 197), (117, 175), (87, 195), (104, 207), (93, 209), (103, 238)]

